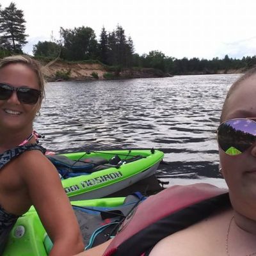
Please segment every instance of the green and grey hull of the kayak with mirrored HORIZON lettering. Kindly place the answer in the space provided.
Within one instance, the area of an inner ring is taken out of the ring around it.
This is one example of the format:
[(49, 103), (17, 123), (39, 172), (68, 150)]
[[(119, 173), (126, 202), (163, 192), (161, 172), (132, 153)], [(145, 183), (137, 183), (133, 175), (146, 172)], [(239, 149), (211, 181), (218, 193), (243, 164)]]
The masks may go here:
[[(88, 175), (80, 175), (62, 180), (70, 200), (88, 200), (111, 195), (121, 189), (153, 175), (163, 159), (163, 152), (159, 150), (109, 150), (102, 152), (84, 152), (63, 154), (72, 160), (84, 161), (86, 157), (106, 157), (110, 159), (118, 156), (122, 161), (131, 161), (120, 166), (106, 168)], [(132, 161), (132, 157), (140, 159)], [(138, 157), (137, 157), (138, 158)]]

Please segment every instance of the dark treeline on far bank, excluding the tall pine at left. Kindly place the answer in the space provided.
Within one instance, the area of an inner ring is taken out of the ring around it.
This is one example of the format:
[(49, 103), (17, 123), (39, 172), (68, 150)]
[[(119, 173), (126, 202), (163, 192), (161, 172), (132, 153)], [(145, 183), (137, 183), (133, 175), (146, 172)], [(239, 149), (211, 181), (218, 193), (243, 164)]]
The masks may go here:
[(156, 68), (172, 75), (181, 74), (216, 74), (230, 70), (246, 70), (256, 65), (256, 56), (244, 57), (241, 60), (229, 58), (213, 58), (212, 60), (199, 58), (177, 59), (166, 56), (161, 51), (150, 51), (148, 54), (134, 53), (131, 36), (125, 36), (122, 26), (118, 25), (112, 32), (105, 28), (96, 39), (92, 28), (80, 27), (74, 29), (60, 29), (59, 42), (38, 42), (34, 45), (33, 54), (37, 58), (47, 57), (67, 61), (98, 60), (101, 63), (122, 68), (141, 67)]

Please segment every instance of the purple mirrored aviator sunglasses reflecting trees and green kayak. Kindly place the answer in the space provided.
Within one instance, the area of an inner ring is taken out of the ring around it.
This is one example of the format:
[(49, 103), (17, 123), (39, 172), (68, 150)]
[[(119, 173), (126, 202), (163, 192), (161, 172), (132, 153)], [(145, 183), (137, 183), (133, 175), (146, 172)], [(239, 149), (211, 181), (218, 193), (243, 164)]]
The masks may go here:
[(245, 152), (256, 141), (256, 122), (247, 118), (230, 119), (218, 127), (218, 144), (230, 156)]

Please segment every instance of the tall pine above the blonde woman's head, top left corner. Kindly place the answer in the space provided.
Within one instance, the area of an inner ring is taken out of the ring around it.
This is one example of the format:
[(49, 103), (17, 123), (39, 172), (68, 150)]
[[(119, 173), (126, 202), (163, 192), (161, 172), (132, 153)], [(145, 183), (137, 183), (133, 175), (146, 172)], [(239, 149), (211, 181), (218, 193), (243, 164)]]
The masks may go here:
[(15, 3), (10, 3), (10, 6), (0, 10), (1, 38), (7, 47), (11, 47), (12, 52), (22, 52), (22, 46), (27, 43), (25, 23), (23, 11), (18, 10)]

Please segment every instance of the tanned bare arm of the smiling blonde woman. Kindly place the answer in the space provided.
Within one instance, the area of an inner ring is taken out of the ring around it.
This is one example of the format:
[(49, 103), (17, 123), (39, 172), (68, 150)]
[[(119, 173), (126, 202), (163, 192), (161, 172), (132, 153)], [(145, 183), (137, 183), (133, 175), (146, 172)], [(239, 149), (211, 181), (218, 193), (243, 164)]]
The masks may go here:
[(25, 152), (22, 178), (29, 198), (52, 240), (51, 256), (70, 256), (84, 250), (76, 216), (52, 163), (39, 151)]

